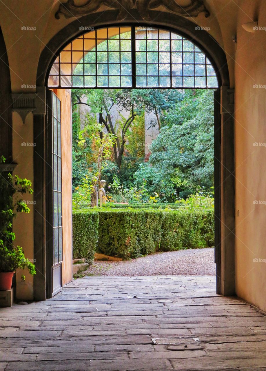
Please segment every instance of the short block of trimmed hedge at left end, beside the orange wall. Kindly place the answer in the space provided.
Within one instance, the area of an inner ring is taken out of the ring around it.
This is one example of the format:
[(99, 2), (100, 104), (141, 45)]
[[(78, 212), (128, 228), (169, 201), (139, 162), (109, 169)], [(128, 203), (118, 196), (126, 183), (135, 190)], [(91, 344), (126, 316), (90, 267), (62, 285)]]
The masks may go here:
[(98, 212), (84, 210), (73, 212), (73, 259), (85, 258), (92, 262), (98, 241)]

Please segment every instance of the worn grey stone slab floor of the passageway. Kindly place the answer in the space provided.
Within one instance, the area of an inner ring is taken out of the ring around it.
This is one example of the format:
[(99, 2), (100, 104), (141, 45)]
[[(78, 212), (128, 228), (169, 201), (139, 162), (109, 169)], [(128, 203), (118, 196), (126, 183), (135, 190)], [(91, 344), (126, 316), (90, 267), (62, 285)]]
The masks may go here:
[(212, 276), (77, 279), (0, 326), (0, 371), (266, 370), (266, 317)]

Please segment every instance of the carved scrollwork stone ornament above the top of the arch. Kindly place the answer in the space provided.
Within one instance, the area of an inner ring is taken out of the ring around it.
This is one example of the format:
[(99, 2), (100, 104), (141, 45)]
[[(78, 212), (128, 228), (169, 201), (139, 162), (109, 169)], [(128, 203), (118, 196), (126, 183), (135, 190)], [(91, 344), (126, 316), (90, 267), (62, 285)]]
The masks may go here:
[(63, 14), (66, 18), (82, 17), (96, 12), (102, 5), (110, 9), (118, 10), (117, 20), (123, 20), (130, 14), (131, 9), (137, 9), (141, 18), (145, 21), (151, 21), (149, 11), (158, 7), (170, 13), (174, 13), (183, 17), (197, 17), (200, 13), (205, 13), (205, 17), (209, 17), (210, 13), (205, 7), (203, 0), (191, 0), (190, 5), (181, 6), (177, 4), (177, 0), (88, 0), (83, 5), (75, 5), (74, 0), (68, 0), (66, 3), (61, 3), (59, 10), (56, 12), (56, 19)]

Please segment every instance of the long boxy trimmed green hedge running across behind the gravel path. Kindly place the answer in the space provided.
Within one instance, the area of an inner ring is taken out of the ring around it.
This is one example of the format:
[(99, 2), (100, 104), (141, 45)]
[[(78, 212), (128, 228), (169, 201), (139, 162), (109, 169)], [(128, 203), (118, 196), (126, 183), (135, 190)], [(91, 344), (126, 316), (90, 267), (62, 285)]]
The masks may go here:
[[(83, 254), (89, 246), (90, 251), (96, 249), (97, 252), (106, 255), (129, 259), (156, 251), (214, 246), (213, 210), (103, 208), (97, 211), (81, 211), (80, 219), (77, 218), (77, 214), (79, 212), (74, 214), (73, 240), (75, 233), (75, 251)], [(95, 214), (99, 217), (98, 225)], [(81, 229), (81, 232), (75, 229)], [(97, 238), (92, 238), (97, 235), (97, 229), (98, 243)], [(89, 241), (87, 243), (86, 238)], [(95, 244), (93, 249), (92, 243)]]

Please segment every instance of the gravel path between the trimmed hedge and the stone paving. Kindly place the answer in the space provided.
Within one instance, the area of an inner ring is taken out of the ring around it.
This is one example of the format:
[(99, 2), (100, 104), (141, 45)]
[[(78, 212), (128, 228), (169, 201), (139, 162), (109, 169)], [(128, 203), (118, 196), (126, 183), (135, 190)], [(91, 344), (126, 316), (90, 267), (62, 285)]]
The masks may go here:
[(91, 276), (214, 276), (214, 248), (155, 253), (122, 262), (95, 261), (82, 274)]

